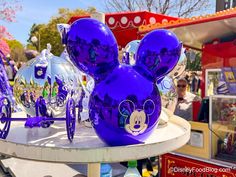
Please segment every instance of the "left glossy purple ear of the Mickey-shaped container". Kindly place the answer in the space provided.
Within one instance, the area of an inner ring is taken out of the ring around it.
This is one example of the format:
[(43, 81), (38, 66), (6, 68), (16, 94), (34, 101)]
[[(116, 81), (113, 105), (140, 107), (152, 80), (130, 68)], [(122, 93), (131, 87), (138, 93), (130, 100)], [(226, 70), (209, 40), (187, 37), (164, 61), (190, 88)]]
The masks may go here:
[(72, 62), (96, 81), (119, 64), (116, 39), (100, 21), (90, 18), (75, 21), (67, 33), (66, 41)]

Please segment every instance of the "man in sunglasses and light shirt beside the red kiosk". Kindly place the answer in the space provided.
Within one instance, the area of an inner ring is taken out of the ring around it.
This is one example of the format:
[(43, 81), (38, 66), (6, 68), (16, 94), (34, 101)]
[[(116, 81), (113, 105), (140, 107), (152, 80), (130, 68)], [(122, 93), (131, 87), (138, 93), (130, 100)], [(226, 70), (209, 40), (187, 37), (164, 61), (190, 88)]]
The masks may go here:
[(187, 80), (180, 78), (177, 81), (178, 102), (174, 114), (186, 120), (192, 120), (192, 102), (201, 100), (197, 95), (187, 92)]

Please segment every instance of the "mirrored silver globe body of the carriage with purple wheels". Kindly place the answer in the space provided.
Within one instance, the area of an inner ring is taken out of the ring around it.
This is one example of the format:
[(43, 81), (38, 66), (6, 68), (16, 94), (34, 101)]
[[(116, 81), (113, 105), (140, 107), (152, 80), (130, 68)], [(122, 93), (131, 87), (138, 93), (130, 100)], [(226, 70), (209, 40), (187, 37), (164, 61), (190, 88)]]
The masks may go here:
[(13, 87), (16, 102), (28, 115), (35, 116), (35, 102), (42, 96), (46, 115), (53, 117), (65, 116), (67, 100), (73, 97), (78, 101), (81, 89), (74, 66), (53, 55), (28, 61), (17, 72)]

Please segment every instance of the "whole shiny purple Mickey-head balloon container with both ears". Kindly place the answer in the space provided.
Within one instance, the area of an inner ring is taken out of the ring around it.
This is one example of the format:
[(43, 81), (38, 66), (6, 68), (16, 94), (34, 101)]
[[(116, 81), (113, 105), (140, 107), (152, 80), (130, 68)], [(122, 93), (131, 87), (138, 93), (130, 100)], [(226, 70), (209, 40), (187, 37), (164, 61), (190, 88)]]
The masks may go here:
[(143, 143), (157, 126), (161, 99), (155, 81), (175, 66), (181, 50), (177, 38), (162, 39), (163, 32), (168, 34), (156, 30), (141, 41), (138, 63), (130, 66), (118, 63), (116, 41), (104, 24), (82, 19), (71, 26), (68, 53), (79, 69), (96, 80), (89, 115), (97, 135), (109, 145)]

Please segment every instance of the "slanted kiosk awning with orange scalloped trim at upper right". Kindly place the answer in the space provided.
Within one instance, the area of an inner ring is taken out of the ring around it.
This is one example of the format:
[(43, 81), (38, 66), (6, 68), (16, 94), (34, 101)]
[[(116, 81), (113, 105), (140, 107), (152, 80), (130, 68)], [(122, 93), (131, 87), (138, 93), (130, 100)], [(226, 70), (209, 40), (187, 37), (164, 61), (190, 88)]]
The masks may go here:
[(186, 46), (202, 49), (203, 44), (235, 35), (236, 8), (190, 19), (143, 25), (139, 32), (144, 35), (159, 28), (173, 31)]

